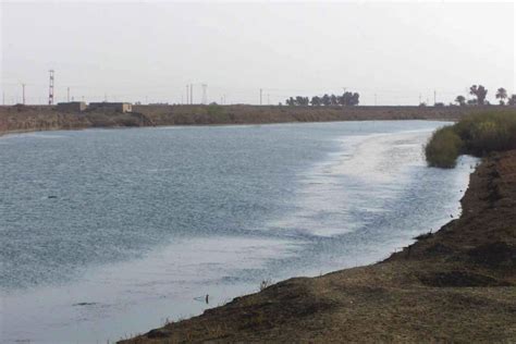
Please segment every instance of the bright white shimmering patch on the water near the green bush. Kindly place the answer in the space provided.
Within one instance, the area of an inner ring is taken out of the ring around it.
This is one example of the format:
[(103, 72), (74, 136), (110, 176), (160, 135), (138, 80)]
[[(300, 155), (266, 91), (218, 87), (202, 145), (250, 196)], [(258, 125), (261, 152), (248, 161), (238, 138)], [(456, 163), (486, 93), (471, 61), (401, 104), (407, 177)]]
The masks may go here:
[[(340, 151), (297, 177), (298, 211), (274, 220), (270, 226), (319, 236), (352, 232), (363, 223), (354, 211), (382, 212), (408, 181), (406, 171), (425, 165), (422, 145), (433, 130), (344, 136)], [(398, 183), (403, 181), (403, 183)], [(320, 219), (324, 218), (321, 225)], [(346, 219), (348, 221), (346, 221)]]

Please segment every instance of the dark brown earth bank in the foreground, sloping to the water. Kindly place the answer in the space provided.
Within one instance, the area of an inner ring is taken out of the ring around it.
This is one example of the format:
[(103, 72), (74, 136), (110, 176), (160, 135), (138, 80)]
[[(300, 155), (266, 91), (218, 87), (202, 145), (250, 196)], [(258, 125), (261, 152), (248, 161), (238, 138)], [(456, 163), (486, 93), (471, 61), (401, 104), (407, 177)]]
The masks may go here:
[(516, 150), (463, 214), (372, 266), (295, 278), (120, 343), (516, 342)]

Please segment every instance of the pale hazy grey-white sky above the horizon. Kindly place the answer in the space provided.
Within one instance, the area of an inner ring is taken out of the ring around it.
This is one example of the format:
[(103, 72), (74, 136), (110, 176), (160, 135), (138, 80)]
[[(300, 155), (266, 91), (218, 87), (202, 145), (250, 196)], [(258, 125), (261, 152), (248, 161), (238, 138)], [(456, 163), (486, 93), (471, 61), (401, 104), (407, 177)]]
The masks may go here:
[[(278, 103), (360, 93), (360, 103), (450, 102), (471, 84), (515, 90), (515, 7), (409, 2), (5, 2), (7, 103), (57, 101)], [(376, 95), (376, 96), (374, 96)]]

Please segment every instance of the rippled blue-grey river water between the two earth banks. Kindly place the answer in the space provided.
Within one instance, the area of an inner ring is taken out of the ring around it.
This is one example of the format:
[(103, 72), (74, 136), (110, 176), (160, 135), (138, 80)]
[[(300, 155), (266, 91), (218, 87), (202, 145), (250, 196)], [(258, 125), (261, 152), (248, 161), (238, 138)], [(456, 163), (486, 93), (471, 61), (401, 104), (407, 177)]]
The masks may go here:
[(378, 261), (459, 213), (475, 160), (421, 153), (445, 124), (0, 137), (0, 339), (105, 343), (262, 280)]

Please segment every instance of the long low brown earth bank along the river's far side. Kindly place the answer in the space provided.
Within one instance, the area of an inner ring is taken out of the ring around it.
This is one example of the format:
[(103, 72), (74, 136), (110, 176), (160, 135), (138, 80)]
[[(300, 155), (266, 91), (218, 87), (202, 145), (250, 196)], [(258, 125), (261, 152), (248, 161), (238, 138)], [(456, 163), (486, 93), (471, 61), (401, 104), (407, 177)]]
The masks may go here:
[(262, 124), (357, 120), (449, 120), (502, 107), (134, 106), (133, 113), (60, 112), (50, 106), (1, 106), (0, 134), (88, 127)]

